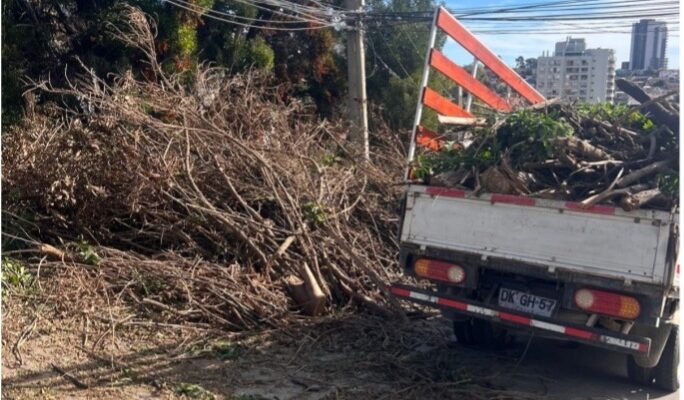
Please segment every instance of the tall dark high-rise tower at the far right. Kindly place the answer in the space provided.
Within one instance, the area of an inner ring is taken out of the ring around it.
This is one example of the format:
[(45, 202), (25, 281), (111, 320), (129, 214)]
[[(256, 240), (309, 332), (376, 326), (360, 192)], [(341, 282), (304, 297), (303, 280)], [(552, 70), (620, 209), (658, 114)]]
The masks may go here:
[(633, 71), (667, 69), (667, 25), (663, 21), (642, 19), (632, 25), (629, 68)]

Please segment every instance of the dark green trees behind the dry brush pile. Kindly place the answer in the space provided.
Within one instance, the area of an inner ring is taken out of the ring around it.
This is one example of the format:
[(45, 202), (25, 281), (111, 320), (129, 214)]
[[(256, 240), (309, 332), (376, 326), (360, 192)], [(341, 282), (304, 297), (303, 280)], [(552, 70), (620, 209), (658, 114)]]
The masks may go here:
[[(167, 72), (191, 70), (198, 62), (212, 62), (234, 72), (247, 68), (272, 71), (279, 82), (286, 83), (285, 88), (295, 96), (312, 99), (325, 116), (334, 115), (346, 91), (346, 62), (344, 53), (338, 49), (344, 36), (333, 29), (244, 29), (199, 18), (165, 2), (129, 3), (157, 21), (155, 45)], [(24, 77), (50, 77), (55, 86), (66, 85), (66, 75), (81, 68), (78, 60), (105, 79), (113, 79), (115, 75), (111, 73), (126, 71), (151, 76), (143, 55), (115, 41), (108, 31), (111, 25), (121, 24), (119, 4), (117, 0), (2, 2), (3, 127), (23, 115)], [(270, 10), (236, 0), (196, 0), (193, 4), (247, 18), (278, 18)], [(369, 8), (401, 12), (429, 9), (433, 5), (431, 0), (372, 0)], [(383, 106), (383, 116), (391, 128), (411, 125), (427, 40), (426, 30), (406, 25), (368, 32), (368, 93), (372, 102)], [(441, 48), (444, 41), (440, 35), (436, 47)], [(445, 86), (445, 82), (448, 81), (439, 74), (433, 74), (430, 84), (441, 93), (448, 93), (451, 85)], [(64, 99), (37, 98), (38, 103), (48, 100)], [(75, 102), (73, 105), (78, 107)], [(436, 115), (426, 112), (423, 124), (436, 129)]]

